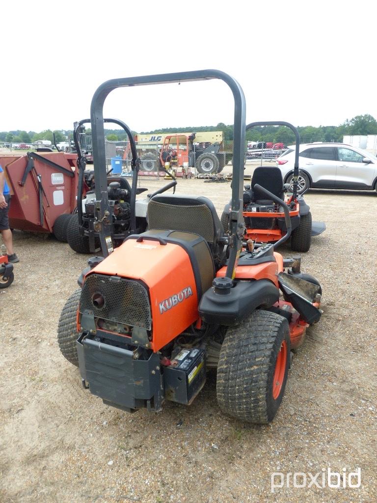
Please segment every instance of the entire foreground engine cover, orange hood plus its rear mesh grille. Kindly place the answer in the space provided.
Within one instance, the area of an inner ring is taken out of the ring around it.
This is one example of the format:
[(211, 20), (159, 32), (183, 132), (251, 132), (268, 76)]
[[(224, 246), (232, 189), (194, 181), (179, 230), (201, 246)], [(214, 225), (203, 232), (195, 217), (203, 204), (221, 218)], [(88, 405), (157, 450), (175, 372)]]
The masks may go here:
[(79, 312), (94, 316), (97, 327), (103, 318), (114, 326), (133, 327), (135, 333), (146, 330), (151, 349), (158, 351), (199, 317), (204, 267), (198, 266), (192, 250), (202, 245), (201, 261), (207, 250), (206, 270), (213, 262), (207, 243), (198, 235), (186, 233), (183, 247), (179, 239), (177, 244), (145, 234), (130, 236), (85, 276)]

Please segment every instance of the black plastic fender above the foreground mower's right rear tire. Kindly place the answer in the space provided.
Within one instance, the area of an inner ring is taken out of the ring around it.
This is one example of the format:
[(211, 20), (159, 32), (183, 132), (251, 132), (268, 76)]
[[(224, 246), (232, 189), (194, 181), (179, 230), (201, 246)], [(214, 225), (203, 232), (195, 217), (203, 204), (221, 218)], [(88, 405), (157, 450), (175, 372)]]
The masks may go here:
[(235, 281), (227, 293), (214, 287), (199, 303), (201, 318), (210, 324), (236, 325), (258, 307), (271, 307), (279, 299), (279, 290), (269, 280)]

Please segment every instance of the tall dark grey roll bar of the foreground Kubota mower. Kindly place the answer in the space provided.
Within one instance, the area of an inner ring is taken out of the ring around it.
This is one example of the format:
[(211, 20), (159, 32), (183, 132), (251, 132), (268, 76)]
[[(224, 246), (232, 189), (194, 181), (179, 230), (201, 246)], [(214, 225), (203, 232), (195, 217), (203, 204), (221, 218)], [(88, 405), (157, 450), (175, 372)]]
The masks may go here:
[(229, 248), (230, 256), (227, 277), (234, 278), (238, 256), (242, 248), (243, 235), (243, 160), (245, 149), (245, 96), (239, 83), (227, 73), (219, 70), (198, 70), (160, 75), (115, 78), (104, 82), (95, 92), (90, 105), (90, 122), (92, 128), (93, 161), (95, 165), (96, 200), (100, 202), (97, 218), (101, 221), (101, 246), (104, 256), (108, 255), (106, 236), (110, 236), (111, 222), (108, 219), (109, 202), (106, 180), (106, 155), (103, 109), (107, 96), (117, 88), (147, 86), (173, 82), (190, 82), (196, 80), (223, 80), (231, 89), (234, 98), (234, 134), (233, 134), (233, 182), (230, 212)]

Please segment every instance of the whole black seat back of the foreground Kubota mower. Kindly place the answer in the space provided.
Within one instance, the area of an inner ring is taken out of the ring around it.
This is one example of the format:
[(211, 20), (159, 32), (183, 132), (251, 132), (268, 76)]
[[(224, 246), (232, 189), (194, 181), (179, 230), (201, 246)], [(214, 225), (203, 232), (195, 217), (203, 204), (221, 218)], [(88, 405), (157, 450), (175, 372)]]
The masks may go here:
[(224, 236), (224, 227), (208, 198), (157, 194), (148, 203), (147, 220), (149, 229), (194, 232), (204, 237), (215, 264), (220, 264), (224, 244), (219, 239)]

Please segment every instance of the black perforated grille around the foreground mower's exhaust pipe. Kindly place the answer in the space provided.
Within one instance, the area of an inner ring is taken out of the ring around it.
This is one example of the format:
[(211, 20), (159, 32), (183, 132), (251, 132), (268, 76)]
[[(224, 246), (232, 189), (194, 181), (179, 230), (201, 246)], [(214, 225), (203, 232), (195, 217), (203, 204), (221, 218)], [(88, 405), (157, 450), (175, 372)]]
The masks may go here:
[[(95, 294), (102, 295), (105, 301), (103, 307), (93, 304)], [(82, 314), (85, 310), (92, 311), (98, 318), (151, 329), (148, 293), (137, 281), (101, 274), (90, 275), (81, 291), (79, 311)]]

